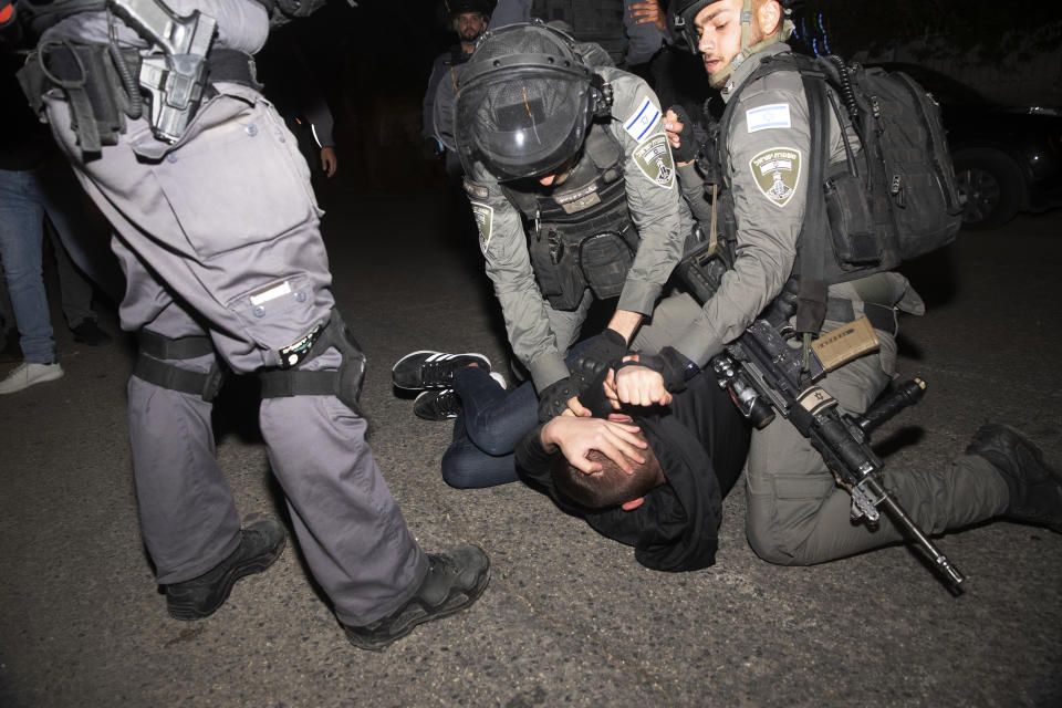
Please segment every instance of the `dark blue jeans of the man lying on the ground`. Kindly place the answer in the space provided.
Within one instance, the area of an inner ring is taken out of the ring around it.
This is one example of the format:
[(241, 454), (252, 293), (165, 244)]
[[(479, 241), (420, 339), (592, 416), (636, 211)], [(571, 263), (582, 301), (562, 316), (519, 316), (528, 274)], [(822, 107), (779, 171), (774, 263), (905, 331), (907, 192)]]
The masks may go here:
[[(575, 344), (568, 361), (593, 341)], [(512, 393), (478, 366), (454, 375), (461, 413), (454, 423), (454, 441), (442, 455), (442, 479), (450, 487), (475, 489), (514, 482), (519, 478), (513, 450), (539, 424), (539, 398), (531, 382)]]

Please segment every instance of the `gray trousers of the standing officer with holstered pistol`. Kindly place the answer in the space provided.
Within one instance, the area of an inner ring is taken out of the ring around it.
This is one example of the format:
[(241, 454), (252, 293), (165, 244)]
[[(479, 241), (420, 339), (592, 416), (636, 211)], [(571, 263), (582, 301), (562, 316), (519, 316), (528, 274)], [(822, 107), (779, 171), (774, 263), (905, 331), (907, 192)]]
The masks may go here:
[[(53, 133), (111, 221), (127, 279), (122, 326), (209, 335), (238, 373), (279, 364), (278, 350), (329, 319), (331, 274), (310, 174), (294, 137), (257, 92), (217, 84), (170, 148), (143, 121), (84, 162), (66, 103), (46, 98)], [(334, 350), (303, 362), (334, 369)], [(169, 362), (208, 371), (212, 356)], [(211, 405), (129, 381), (129, 438), (144, 542), (158, 582), (209, 570), (239, 543), (240, 519), (215, 458)], [(345, 624), (399, 607), (427, 573), (364, 440), (334, 396), (269, 398), (269, 459), (314, 577)]]

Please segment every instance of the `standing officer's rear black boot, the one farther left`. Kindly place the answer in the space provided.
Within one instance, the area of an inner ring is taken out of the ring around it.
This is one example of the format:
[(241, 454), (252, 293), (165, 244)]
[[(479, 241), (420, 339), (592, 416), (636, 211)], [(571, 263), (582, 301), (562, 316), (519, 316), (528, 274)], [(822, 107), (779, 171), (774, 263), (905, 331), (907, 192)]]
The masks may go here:
[(273, 564), (288, 534), (272, 519), (256, 521), (240, 531), (240, 544), (199, 577), (166, 586), (166, 607), (174, 620), (201, 620), (220, 607), (232, 585), (244, 575), (261, 573)]

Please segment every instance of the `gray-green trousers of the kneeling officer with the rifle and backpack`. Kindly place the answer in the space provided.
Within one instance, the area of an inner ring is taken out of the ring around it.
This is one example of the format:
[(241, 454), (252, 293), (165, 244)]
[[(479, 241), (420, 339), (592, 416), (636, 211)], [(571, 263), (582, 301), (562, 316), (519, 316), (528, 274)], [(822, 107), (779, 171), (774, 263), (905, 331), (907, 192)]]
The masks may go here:
[[(638, 333), (641, 348), (655, 351), (674, 341), (700, 305), (685, 293), (667, 298)], [(823, 332), (841, 326), (826, 321)], [(821, 385), (842, 412), (863, 413), (895, 373), (896, 341), (875, 330), (881, 350), (831, 372)], [(636, 342), (638, 337), (636, 337)], [(635, 348), (638, 348), (637, 344)], [(884, 483), (927, 533), (969, 525), (1000, 514), (1010, 499), (1003, 478), (977, 455), (959, 455), (944, 468), (896, 469), (886, 460)], [(752, 550), (781, 565), (810, 565), (904, 540), (887, 513), (875, 530), (850, 520), (852, 498), (839, 487), (822, 456), (778, 416), (752, 431), (746, 462), (746, 533)]]

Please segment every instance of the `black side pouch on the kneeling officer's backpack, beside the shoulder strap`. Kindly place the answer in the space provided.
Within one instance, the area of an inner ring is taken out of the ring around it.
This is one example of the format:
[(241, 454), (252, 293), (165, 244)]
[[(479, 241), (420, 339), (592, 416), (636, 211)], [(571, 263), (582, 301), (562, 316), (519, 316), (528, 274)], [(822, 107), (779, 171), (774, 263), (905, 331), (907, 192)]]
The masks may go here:
[(841, 268), (864, 268), (882, 260), (882, 244), (862, 180), (846, 169), (823, 183), (833, 252)]

